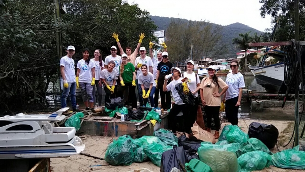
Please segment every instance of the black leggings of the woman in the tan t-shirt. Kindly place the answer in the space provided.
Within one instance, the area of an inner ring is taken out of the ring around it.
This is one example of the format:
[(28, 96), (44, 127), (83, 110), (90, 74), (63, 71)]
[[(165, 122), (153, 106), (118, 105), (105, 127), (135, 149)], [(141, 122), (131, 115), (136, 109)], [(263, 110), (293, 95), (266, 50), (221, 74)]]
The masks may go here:
[(206, 127), (211, 128), (212, 117), (214, 118), (215, 129), (219, 131), (220, 120), (219, 120), (219, 109), (220, 106), (204, 106), (204, 112), (206, 114)]

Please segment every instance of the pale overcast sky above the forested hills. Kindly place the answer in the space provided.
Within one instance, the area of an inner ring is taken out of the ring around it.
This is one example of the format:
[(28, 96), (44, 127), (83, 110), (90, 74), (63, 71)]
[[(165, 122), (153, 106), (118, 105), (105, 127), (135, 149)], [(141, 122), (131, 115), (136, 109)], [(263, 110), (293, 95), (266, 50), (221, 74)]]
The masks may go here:
[(220, 25), (242, 23), (259, 31), (270, 27), (271, 17), (260, 16), (259, 0), (128, 0), (150, 15), (206, 20)]

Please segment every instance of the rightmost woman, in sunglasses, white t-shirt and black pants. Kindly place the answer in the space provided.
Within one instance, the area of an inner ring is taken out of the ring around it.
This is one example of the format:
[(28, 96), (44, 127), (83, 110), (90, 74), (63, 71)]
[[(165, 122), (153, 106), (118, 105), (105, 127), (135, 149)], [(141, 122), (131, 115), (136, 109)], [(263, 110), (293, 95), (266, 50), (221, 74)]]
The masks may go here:
[(232, 72), (226, 78), (229, 89), (223, 97), (223, 102), (226, 102), (226, 117), (232, 125), (238, 125), (238, 107), (240, 106), (242, 88), (246, 87), (242, 74), (238, 72), (238, 66), (237, 61), (231, 62)]

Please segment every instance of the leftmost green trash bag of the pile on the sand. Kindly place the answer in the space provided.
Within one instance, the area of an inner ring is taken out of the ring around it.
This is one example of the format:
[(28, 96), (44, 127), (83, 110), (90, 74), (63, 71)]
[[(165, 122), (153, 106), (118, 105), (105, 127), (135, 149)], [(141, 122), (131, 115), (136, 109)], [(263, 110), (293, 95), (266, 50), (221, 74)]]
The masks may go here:
[(108, 145), (105, 161), (110, 165), (130, 165), (134, 160), (133, 143), (131, 139), (118, 138)]

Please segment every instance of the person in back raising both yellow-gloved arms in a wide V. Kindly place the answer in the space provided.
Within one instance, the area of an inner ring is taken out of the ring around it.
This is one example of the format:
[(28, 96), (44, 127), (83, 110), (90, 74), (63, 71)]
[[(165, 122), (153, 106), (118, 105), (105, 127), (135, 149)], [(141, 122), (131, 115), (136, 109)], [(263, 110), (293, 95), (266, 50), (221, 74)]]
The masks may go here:
[[(118, 35), (113, 33), (112, 37), (116, 40), (117, 46), (119, 48), (120, 54), (125, 54), (123, 48), (121, 47), (119, 40), (118, 40)], [(133, 53), (131, 53), (131, 47), (126, 47), (126, 54), (127, 54), (127, 62), (130, 62), (131, 64), (134, 64), (138, 55), (138, 50), (141, 46), (142, 40), (145, 37), (145, 35), (143, 33), (141, 33), (141, 35), (139, 35), (140, 39), (139, 39), (139, 43), (135, 49), (135, 51)]]

